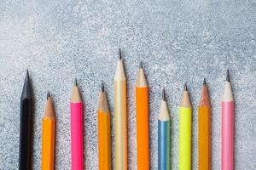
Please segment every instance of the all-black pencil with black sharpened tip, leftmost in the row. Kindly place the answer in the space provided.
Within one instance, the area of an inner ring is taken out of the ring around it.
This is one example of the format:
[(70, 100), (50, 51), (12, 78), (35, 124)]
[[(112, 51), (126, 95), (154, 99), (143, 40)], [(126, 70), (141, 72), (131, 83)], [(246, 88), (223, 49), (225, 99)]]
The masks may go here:
[(26, 78), (20, 98), (20, 155), (19, 169), (31, 169), (32, 151), (32, 116), (33, 116), (32, 84), (26, 71)]

